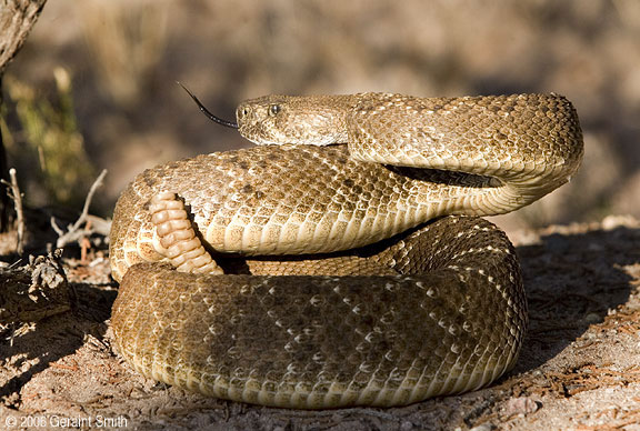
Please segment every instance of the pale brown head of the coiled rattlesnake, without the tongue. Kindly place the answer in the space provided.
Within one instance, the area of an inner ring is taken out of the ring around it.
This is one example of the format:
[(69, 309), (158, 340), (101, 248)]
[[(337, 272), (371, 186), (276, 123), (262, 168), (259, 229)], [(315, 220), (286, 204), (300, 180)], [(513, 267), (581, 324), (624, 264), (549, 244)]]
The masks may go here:
[(347, 142), (348, 96), (264, 96), (236, 110), (238, 130), (257, 144)]

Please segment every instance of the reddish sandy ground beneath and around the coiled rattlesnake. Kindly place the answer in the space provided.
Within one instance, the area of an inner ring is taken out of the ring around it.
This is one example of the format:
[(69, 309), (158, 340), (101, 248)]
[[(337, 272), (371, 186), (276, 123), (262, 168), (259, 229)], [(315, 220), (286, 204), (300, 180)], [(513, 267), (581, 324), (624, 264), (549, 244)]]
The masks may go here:
[(111, 347), (107, 257), (66, 260), (72, 311), (2, 331), (0, 429), (640, 430), (640, 222), (608, 217), (512, 240), (531, 318), (516, 370), (397, 409), (269, 409), (147, 380)]

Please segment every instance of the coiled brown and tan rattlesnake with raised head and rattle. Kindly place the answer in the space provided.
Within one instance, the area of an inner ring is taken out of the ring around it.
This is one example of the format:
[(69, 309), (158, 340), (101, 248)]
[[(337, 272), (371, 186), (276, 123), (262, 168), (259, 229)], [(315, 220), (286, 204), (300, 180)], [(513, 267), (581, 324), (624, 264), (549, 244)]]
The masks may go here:
[(576, 172), (582, 136), (567, 99), (270, 96), (237, 119), (246, 138), (278, 146), (147, 170), (118, 201), (111, 323), (136, 370), (321, 409), (469, 391), (514, 364), (519, 263), (478, 216)]

